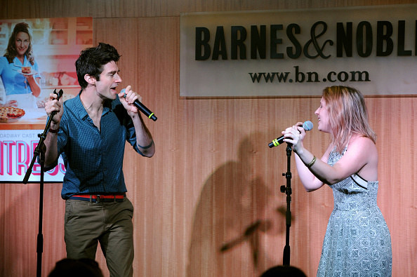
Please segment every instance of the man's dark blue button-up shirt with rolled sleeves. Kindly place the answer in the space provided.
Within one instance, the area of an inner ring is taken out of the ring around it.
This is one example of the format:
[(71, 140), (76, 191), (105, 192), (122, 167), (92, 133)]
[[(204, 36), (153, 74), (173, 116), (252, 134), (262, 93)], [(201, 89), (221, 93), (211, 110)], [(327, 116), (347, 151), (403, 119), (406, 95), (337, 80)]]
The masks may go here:
[(105, 103), (100, 129), (94, 125), (79, 95), (64, 102), (58, 132), (58, 154), (62, 154), (66, 173), (61, 196), (126, 192), (123, 158), (126, 141), (136, 145), (131, 117), (120, 100)]

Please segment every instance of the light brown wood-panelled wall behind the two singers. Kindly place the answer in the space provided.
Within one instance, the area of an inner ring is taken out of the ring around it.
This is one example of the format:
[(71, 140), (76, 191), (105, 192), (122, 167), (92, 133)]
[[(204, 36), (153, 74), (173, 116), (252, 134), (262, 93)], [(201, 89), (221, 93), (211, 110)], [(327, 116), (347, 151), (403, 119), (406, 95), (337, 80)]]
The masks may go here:
[[(296, 121), (310, 119), (317, 126), (319, 98), (180, 98), (179, 12), (320, 8), (345, 6), (345, 1), (40, 2), (4, 0), (1, 17), (94, 16), (95, 43), (117, 47), (123, 86), (140, 91), (158, 116), (147, 121), (155, 156), (143, 158), (126, 148), (125, 179), (135, 207), (135, 276), (258, 276), (281, 264), (286, 196), (279, 187), (286, 183), (286, 153), (267, 143)], [(366, 98), (378, 134), (378, 205), (392, 235), (393, 276), (417, 271), (416, 102), (416, 97)], [(315, 128), (305, 145), (320, 155), (328, 142)], [(315, 276), (333, 196), (329, 188), (304, 191), (293, 159), (291, 165), (291, 264)], [(0, 276), (32, 276), (39, 186), (0, 184), (0, 195)], [(60, 184), (46, 184), (44, 195), (46, 276), (65, 257), (64, 201)], [(97, 259), (108, 276), (100, 250)]]

